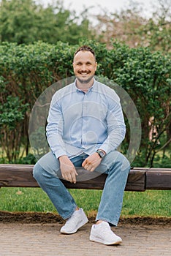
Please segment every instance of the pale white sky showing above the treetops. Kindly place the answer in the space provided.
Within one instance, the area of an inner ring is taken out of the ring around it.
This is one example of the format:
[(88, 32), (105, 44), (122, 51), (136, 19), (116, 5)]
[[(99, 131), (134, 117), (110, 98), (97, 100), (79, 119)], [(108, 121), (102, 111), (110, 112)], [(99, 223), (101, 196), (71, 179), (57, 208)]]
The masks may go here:
[[(53, 0), (39, 0), (40, 2), (44, 2), (45, 4), (52, 2)], [(121, 9), (125, 9), (129, 6), (129, 3), (132, 0), (63, 0), (64, 7), (68, 10), (75, 10), (77, 13), (83, 12), (86, 7), (92, 7), (89, 12), (96, 15), (102, 12), (102, 9), (107, 10), (109, 12), (120, 11)], [(158, 0), (133, 0), (133, 2), (137, 4), (141, 4), (141, 10), (146, 16), (150, 16), (153, 11), (153, 4), (159, 5)], [(99, 7), (100, 6), (100, 7)]]

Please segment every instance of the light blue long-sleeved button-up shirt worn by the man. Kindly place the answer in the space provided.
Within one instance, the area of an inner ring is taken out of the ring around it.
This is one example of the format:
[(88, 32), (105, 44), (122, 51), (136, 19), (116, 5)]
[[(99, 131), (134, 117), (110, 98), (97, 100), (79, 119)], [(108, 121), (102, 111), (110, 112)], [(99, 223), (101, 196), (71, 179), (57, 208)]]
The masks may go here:
[(56, 91), (47, 117), (47, 141), (56, 158), (115, 150), (126, 127), (120, 99), (113, 89), (94, 80), (84, 93), (76, 83)]

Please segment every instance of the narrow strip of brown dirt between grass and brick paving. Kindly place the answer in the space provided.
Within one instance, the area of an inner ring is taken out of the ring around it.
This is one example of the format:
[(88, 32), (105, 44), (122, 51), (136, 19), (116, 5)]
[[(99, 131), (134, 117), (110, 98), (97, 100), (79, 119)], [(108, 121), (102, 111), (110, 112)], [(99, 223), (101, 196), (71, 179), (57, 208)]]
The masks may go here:
[[(89, 216), (89, 222), (94, 222), (95, 217)], [(9, 212), (0, 211), (0, 222), (20, 222), (20, 223), (64, 223), (58, 214), (38, 213), (38, 212)], [(162, 225), (171, 227), (171, 218), (152, 217), (131, 217), (121, 218), (119, 225)]]

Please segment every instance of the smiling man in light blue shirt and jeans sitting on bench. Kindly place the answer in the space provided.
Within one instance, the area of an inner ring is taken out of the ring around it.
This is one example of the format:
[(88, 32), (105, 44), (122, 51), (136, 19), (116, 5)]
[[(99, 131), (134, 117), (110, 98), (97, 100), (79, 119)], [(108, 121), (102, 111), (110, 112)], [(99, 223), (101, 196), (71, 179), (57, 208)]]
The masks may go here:
[(66, 219), (61, 233), (71, 234), (88, 219), (58, 177), (75, 184), (77, 167), (107, 173), (90, 240), (120, 244), (121, 238), (110, 226), (118, 224), (129, 173), (128, 160), (117, 151), (126, 128), (118, 95), (95, 80), (96, 67), (94, 50), (87, 45), (78, 48), (73, 59), (75, 82), (56, 91), (50, 103), (47, 118), (50, 152), (34, 166), (34, 178), (58, 214)]

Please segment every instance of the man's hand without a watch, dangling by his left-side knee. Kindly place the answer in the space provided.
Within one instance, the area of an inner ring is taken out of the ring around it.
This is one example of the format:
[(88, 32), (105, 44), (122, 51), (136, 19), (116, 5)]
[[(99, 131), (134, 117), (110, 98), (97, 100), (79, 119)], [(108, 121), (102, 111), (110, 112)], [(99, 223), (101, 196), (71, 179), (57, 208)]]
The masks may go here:
[(67, 156), (61, 156), (58, 158), (60, 162), (61, 174), (66, 181), (76, 183), (77, 171), (71, 160)]

